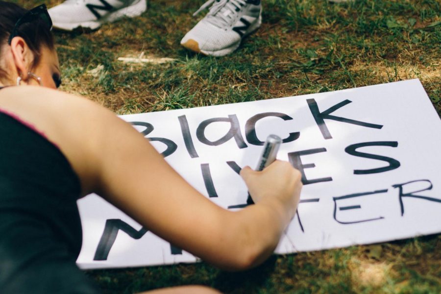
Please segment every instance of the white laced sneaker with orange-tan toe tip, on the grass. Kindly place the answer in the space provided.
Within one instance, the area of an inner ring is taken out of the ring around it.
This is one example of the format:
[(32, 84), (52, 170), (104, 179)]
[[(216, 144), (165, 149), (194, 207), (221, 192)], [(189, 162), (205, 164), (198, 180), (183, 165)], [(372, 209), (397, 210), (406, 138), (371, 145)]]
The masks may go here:
[(236, 50), (242, 38), (262, 23), (260, 0), (208, 0), (194, 16), (208, 7), (208, 14), (181, 40), (181, 45), (205, 55), (223, 56)]

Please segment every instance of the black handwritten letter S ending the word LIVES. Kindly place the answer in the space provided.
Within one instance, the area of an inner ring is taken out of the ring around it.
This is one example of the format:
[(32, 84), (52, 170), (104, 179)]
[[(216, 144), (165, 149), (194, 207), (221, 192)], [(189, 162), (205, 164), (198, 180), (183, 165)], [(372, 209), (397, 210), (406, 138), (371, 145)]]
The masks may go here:
[(400, 162), (398, 160), (391, 158), (391, 157), (370, 154), (370, 153), (360, 152), (360, 151), (356, 150), (357, 148), (367, 147), (367, 146), (397, 147), (398, 142), (396, 142), (396, 141), (366, 142), (366, 143), (358, 143), (358, 144), (349, 145), (348, 147), (344, 148), (344, 151), (348, 154), (358, 156), (358, 157), (382, 160), (382, 161), (386, 161), (389, 163), (389, 166), (387, 166), (387, 167), (376, 168), (376, 169), (371, 169), (371, 170), (354, 170), (354, 174), (369, 174), (369, 173), (387, 172), (387, 171), (392, 171), (392, 170), (398, 169), (400, 167), (400, 165), (401, 165)]

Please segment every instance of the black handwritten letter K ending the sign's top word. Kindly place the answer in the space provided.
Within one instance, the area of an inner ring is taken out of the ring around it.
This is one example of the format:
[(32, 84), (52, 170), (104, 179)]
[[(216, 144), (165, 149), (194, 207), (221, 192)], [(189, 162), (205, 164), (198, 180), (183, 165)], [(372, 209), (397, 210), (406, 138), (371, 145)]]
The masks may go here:
[(320, 132), (323, 135), (324, 139), (332, 139), (331, 133), (329, 133), (328, 127), (326, 126), (326, 123), (324, 122), (324, 120), (333, 120), (333, 121), (342, 122), (342, 123), (352, 123), (352, 124), (356, 124), (356, 125), (377, 128), (377, 129), (381, 129), (383, 127), (383, 125), (380, 125), (380, 124), (364, 123), (364, 122), (360, 122), (360, 121), (355, 121), (355, 120), (350, 120), (350, 119), (330, 115), (331, 113), (333, 113), (337, 109), (343, 107), (346, 104), (351, 103), (352, 102), (351, 100), (346, 99), (346, 100), (344, 100), (340, 103), (337, 103), (334, 106), (326, 109), (323, 112), (319, 111), (319, 106), (317, 105), (317, 102), (314, 98), (307, 99), (306, 101), (308, 102), (309, 109), (311, 110), (311, 113), (314, 117), (314, 120), (316, 121), (317, 125), (319, 126)]

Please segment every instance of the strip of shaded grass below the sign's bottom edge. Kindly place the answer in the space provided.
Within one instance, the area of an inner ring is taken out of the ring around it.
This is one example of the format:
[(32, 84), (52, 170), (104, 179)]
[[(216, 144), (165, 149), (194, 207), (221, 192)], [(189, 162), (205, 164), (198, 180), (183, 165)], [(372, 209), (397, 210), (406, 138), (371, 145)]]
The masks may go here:
[(440, 293), (441, 236), (273, 256), (229, 273), (208, 264), (90, 271), (104, 293), (204, 284), (224, 293)]

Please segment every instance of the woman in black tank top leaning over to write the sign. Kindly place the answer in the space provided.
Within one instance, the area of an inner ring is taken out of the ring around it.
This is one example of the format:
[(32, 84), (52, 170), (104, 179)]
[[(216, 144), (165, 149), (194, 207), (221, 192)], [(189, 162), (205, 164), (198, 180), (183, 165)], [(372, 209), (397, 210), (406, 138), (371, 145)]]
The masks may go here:
[(92, 192), (219, 268), (248, 269), (269, 257), (296, 211), (299, 172), (281, 161), (263, 172), (246, 167), (241, 176), (256, 204), (238, 212), (218, 207), (131, 125), (55, 90), (60, 71), (50, 27), (46, 6), (27, 11), (0, 1), (1, 293), (97, 293), (75, 265), (76, 200)]

